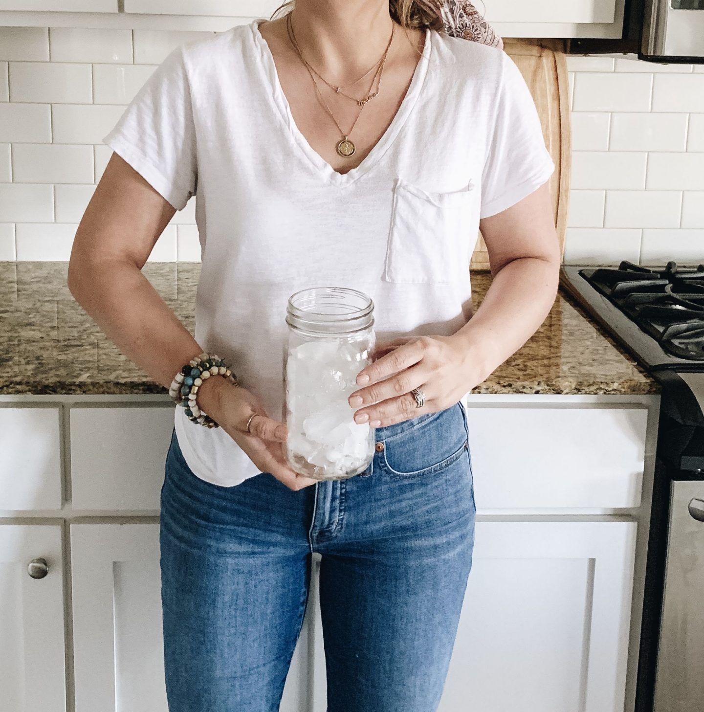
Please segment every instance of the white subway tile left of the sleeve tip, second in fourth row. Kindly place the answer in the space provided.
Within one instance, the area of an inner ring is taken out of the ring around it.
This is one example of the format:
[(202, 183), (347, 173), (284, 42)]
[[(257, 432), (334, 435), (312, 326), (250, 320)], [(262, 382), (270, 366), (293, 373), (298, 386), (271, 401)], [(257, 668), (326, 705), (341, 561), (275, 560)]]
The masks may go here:
[(93, 146), (16, 143), (16, 183), (93, 183)]

